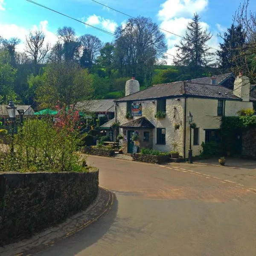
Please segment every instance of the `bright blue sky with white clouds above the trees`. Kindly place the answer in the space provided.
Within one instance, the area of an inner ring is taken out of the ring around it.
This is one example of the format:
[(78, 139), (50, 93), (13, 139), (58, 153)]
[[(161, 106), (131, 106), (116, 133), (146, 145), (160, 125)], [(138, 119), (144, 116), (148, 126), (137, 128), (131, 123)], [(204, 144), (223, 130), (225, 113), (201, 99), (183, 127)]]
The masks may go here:
[[(92, 0), (34, 1), (111, 33), (115, 31), (117, 26), (122, 25), (128, 19), (127, 16), (99, 5)], [(233, 15), (241, 2), (241, 0), (97, 1), (133, 17), (139, 15), (151, 17), (160, 28), (177, 35), (184, 35), (188, 22), (191, 21), (193, 14), (197, 12), (201, 17), (201, 26), (212, 33), (212, 39), (208, 45), (216, 49), (218, 49), (218, 44), (221, 40), (217, 35), (230, 27)], [(249, 9), (256, 9), (256, 1), (250, 1)], [(26, 35), (30, 30), (42, 29), (46, 35), (46, 41), (53, 45), (58, 40), (55, 35), (58, 27), (63, 26), (72, 26), (77, 35), (96, 35), (103, 42), (113, 40), (111, 35), (26, 0), (0, 0), (0, 35), (6, 39), (12, 37), (20, 38), (21, 44), (17, 47), (18, 51), (23, 51)], [(175, 55), (176, 49), (174, 45), (178, 44), (181, 38), (168, 32), (164, 33), (168, 44), (167, 52)], [(170, 55), (168, 57), (168, 64), (172, 64), (172, 57)]]

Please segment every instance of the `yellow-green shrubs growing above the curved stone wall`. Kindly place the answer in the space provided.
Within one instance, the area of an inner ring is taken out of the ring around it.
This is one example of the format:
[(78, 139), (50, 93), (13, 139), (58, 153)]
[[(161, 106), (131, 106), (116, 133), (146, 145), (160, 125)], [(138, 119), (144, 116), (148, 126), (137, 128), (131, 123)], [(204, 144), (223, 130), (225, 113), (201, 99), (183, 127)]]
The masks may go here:
[(77, 166), (82, 169), (76, 153), (78, 135), (78, 130), (68, 125), (54, 126), (50, 119), (27, 119), (15, 136), (14, 152), (7, 149), (1, 168), (17, 172), (73, 171)]

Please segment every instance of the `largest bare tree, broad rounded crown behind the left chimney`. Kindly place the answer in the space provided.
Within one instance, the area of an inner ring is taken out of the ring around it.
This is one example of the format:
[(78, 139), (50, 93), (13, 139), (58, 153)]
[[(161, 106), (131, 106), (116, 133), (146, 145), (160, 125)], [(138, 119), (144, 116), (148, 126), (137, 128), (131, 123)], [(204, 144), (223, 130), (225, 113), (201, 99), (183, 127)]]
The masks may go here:
[(119, 26), (115, 36), (115, 61), (119, 73), (122, 76), (136, 73), (143, 83), (146, 65), (152, 66), (158, 58), (165, 58), (165, 35), (151, 18), (137, 17), (129, 19), (125, 26)]

